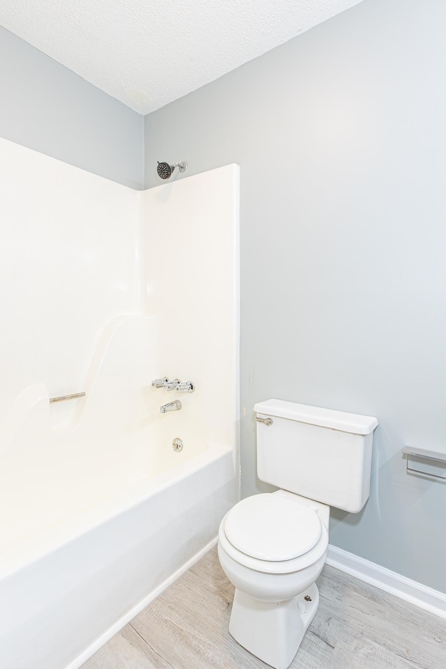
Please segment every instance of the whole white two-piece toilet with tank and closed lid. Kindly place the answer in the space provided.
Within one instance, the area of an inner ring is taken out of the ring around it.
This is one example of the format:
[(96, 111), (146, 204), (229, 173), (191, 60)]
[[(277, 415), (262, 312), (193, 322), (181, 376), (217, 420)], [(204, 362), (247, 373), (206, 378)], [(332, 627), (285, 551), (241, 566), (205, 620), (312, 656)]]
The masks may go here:
[(236, 587), (229, 632), (275, 669), (289, 667), (318, 608), (330, 506), (369, 498), (376, 418), (279, 399), (254, 406), (257, 474), (279, 488), (224, 516), (218, 556)]

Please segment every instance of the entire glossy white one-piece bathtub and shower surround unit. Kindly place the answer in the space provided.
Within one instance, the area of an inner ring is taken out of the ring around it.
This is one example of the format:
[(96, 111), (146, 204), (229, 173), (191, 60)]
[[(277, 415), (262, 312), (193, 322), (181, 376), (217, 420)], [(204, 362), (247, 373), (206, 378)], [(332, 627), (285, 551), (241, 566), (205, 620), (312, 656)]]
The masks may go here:
[(75, 669), (239, 498), (238, 168), (149, 195), (0, 148), (0, 666)]

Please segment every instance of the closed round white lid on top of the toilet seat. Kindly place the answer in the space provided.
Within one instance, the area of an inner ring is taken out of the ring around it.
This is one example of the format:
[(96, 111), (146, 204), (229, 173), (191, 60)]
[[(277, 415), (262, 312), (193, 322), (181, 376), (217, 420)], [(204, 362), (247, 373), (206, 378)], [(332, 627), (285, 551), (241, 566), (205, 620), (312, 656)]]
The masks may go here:
[(224, 534), (234, 548), (274, 562), (293, 560), (311, 551), (321, 533), (314, 509), (274, 493), (238, 502), (224, 522)]

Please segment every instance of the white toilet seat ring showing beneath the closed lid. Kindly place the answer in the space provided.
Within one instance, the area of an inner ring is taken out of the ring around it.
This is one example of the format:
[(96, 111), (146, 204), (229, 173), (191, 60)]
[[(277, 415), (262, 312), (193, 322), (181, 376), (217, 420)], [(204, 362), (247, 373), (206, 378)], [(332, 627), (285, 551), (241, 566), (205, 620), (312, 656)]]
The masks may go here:
[[(267, 495), (271, 495), (271, 493), (266, 493)], [(254, 495), (255, 497), (259, 495)], [(240, 504), (240, 502), (238, 502)], [(295, 502), (291, 502), (295, 504)], [(237, 507), (238, 505), (236, 505)], [(233, 507), (233, 509), (236, 509), (236, 507)], [(298, 557), (293, 557), (290, 560), (262, 560), (257, 557), (252, 557), (252, 555), (247, 555), (247, 553), (243, 553), (242, 551), (238, 550), (236, 546), (233, 546), (231, 544), (231, 541), (229, 541), (228, 537), (226, 537), (226, 532), (225, 532), (225, 525), (226, 525), (226, 520), (233, 511), (229, 511), (226, 516), (224, 516), (222, 522), (220, 523), (220, 529), (218, 532), (218, 541), (220, 544), (220, 548), (222, 551), (227, 553), (229, 557), (231, 557), (233, 560), (238, 562), (238, 564), (242, 564), (244, 567), (248, 567), (249, 569), (254, 569), (254, 571), (261, 571), (265, 574), (291, 574), (294, 571), (300, 571), (301, 569), (305, 569), (306, 567), (309, 567), (311, 564), (314, 564), (317, 562), (323, 555), (326, 553), (327, 548), (328, 548), (328, 530), (325, 527), (323, 523), (321, 523), (320, 519), (317, 517), (317, 514), (315, 511), (312, 510), (312, 513), (315, 514), (316, 519), (320, 523), (321, 526), (321, 534), (316, 542), (316, 544), (309, 549), (306, 553), (303, 553), (303, 555), (300, 555)]]

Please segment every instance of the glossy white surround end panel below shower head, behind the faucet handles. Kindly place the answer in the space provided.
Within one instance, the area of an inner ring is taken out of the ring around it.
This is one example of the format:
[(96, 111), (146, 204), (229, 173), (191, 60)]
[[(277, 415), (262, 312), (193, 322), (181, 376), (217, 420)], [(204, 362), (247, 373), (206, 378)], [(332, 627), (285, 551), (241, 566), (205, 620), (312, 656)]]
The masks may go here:
[(238, 195), (228, 193), (238, 194), (233, 166), (140, 196), (142, 308), (160, 314), (153, 378), (195, 385), (193, 394), (155, 394), (160, 404), (180, 399), (183, 405), (165, 417), (169, 424), (200, 425), (217, 444), (233, 443), (238, 415)]

